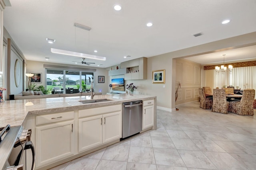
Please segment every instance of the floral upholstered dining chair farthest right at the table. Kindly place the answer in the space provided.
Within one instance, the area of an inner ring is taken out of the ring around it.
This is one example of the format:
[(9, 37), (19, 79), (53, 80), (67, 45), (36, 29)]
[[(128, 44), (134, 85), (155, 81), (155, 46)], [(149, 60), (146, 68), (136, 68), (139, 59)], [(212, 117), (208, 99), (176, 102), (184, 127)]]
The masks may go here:
[(241, 101), (230, 102), (228, 111), (238, 115), (253, 115), (253, 101), (255, 97), (255, 90), (246, 89), (243, 92)]

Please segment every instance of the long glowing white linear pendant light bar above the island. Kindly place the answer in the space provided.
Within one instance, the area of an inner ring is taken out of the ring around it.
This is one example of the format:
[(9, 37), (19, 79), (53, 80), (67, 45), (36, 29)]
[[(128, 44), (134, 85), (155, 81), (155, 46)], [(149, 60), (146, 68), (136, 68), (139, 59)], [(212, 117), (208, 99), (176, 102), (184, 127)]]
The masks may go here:
[(106, 57), (100, 57), (100, 56), (84, 54), (84, 53), (77, 53), (77, 52), (66, 51), (66, 50), (61, 50), (61, 49), (51, 48), (51, 52), (56, 53), (56, 54), (72, 55), (72, 56), (83, 57), (83, 58), (88, 58), (88, 59), (96, 59), (96, 60), (104, 60), (104, 61), (106, 60)]

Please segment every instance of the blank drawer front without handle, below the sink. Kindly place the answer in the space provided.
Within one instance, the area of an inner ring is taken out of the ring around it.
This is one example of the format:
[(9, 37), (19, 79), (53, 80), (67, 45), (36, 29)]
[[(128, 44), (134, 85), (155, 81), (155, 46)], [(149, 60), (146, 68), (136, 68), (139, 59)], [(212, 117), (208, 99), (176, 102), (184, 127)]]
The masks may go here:
[(122, 105), (114, 105), (114, 106), (105, 106), (105, 107), (96, 107), (91, 109), (78, 110), (78, 117), (86, 117), (91, 115), (98, 115), (103, 113), (110, 113), (114, 111), (120, 111), (122, 109)]

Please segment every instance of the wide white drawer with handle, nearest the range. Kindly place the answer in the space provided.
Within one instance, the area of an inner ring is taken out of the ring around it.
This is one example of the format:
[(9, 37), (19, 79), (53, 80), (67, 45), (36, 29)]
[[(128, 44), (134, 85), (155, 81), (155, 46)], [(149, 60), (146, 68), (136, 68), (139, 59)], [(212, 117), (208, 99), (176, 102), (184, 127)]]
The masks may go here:
[(74, 119), (74, 111), (36, 116), (36, 125)]

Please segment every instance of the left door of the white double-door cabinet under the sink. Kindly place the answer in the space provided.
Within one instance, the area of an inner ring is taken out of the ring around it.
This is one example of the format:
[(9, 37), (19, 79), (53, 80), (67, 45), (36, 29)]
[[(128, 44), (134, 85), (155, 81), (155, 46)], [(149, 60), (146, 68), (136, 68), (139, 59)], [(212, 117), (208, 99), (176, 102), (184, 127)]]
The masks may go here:
[(78, 120), (78, 152), (102, 144), (102, 115)]

